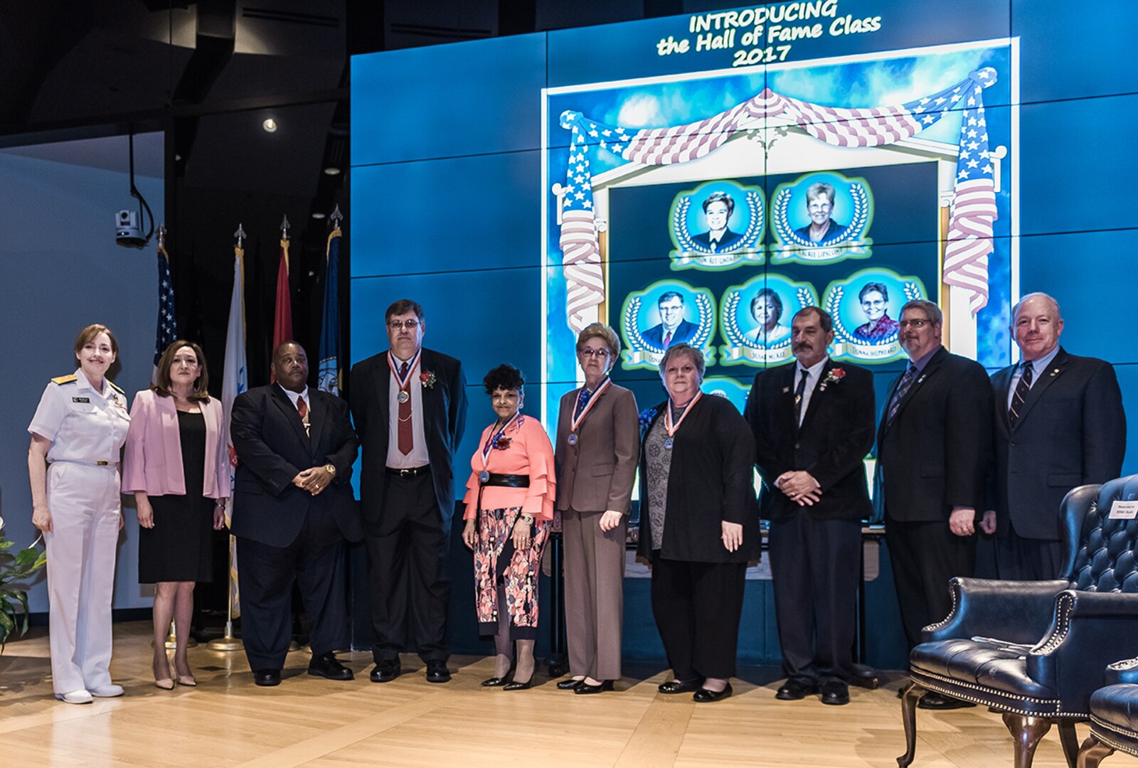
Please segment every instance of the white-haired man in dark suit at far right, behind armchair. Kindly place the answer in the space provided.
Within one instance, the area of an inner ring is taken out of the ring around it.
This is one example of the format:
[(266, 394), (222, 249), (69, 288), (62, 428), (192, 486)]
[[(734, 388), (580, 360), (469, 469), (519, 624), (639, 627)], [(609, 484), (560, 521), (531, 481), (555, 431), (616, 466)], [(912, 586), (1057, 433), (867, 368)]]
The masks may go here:
[(1047, 294), (1012, 308), (1021, 360), (996, 390), (996, 568), (1001, 579), (1054, 579), (1059, 503), (1069, 490), (1122, 473), (1127, 416), (1114, 368), (1059, 346), (1063, 317)]

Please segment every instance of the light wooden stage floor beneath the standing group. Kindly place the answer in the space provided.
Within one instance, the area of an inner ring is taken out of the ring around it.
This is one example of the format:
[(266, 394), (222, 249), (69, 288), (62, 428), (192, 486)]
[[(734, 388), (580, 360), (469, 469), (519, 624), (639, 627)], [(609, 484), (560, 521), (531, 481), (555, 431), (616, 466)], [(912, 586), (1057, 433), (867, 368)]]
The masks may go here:
[[(245, 654), (190, 651), (198, 687), (165, 692), (150, 675), (149, 624), (115, 626), (114, 679), (121, 699), (68, 705), (51, 697), (43, 629), (0, 656), (0, 763), (171, 768), (360, 768), (362, 766), (818, 766), (892, 768), (904, 751), (898, 674), (876, 691), (852, 689), (846, 707), (817, 697), (780, 702), (775, 670), (744, 669), (735, 695), (715, 704), (655, 692), (665, 670), (626, 669), (617, 693), (578, 696), (537, 676), (530, 691), (486, 689), (489, 659), (456, 656), (454, 679), (430, 685), (422, 663), (368, 680), (369, 653), (345, 654), (349, 683), (306, 674), (289, 655), (275, 688), (253, 684)], [(651, 676), (651, 677), (649, 677)], [(998, 715), (981, 708), (917, 718), (916, 766), (1012, 765)], [(1080, 741), (1087, 729), (1079, 727)], [(1107, 766), (1129, 758), (1108, 758)], [(1038, 768), (1065, 766), (1053, 729)]]

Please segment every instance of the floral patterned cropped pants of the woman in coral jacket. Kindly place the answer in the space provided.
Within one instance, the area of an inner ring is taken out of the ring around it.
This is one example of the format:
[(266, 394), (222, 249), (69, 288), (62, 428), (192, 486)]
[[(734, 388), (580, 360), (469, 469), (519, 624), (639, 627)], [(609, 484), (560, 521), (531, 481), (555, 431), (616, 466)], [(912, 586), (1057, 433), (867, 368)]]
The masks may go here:
[(547, 520), (534, 521), (529, 546), (514, 550), (513, 523), (520, 506), (479, 510), (478, 540), (475, 545), (475, 603), (478, 628), (483, 635), (496, 635), (498, 626), (498, 585), (504, 587), (505, 609), (513, 639), (537, 636), (537, 581), (542, 550), (550, 536)]

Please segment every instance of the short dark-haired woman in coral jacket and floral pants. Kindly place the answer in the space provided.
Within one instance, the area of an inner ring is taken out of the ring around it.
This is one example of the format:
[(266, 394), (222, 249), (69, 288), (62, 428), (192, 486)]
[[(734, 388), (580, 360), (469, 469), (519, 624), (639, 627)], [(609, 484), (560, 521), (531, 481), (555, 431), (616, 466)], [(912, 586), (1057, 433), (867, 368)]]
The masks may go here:
[(521, 371), (502, 364), (483, 383), (497, 420), (470, 459), (462, 542), (475, 553), (479, 634), (494, 636), (494, 676), (483, 686), (525, 691), (534, 677), (542, 550), (553, 520), (553, 446), (541, 422), (521, 413)]

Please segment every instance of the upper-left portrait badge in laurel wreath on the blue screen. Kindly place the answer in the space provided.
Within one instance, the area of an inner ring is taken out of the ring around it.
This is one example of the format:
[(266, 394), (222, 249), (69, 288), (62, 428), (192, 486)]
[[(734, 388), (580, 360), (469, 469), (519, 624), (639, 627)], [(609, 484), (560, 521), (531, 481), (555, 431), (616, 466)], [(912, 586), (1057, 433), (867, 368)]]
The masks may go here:
[(718, 180), (681, 192), (668, 216), (674, 269), (729, 269), (762, 262), (766, 206), (762, 191)]

